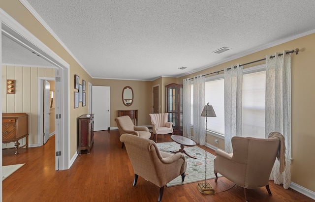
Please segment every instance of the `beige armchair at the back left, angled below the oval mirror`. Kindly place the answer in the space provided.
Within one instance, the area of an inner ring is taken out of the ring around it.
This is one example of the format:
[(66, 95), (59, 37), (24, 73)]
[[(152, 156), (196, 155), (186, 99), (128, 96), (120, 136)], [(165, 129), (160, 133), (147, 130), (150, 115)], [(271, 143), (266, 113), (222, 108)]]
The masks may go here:
[[(151, 133), (149, 132), (148, 127), (133, 125), (133, 122), (128, 115), (119, 116), (115, 118), (115, 121), (117, 123), (120, 135), (123, 135), (124, 133), (128, 133), (128, 134), (136, 135), (145, 139), (151, 138)], [(124, 143), (122, 144), (122, 148), (123, 147), (124, 147)]]

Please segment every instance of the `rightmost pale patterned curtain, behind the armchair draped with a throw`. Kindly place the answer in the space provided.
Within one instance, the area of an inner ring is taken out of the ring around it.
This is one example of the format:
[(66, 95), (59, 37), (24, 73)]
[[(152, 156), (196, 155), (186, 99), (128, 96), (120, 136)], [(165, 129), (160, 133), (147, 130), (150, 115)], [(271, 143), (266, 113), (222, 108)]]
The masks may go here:
[(287, 189), (291, 183), (291, 54), (286, 51), (282, 56), (266, 56), (266, 138), (274, 131), (285, 138), (285, 169), (279, 172), (276, 159), (270, 179)]

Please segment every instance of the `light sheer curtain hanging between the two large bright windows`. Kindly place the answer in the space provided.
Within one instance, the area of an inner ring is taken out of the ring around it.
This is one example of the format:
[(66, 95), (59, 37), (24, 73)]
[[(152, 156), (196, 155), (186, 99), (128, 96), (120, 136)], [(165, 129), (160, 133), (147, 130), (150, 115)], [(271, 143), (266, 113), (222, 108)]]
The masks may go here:
[(224, 68), (224, 130), (225, 151), (233, 153), (231, 139), (242, 136), (243, 66)]

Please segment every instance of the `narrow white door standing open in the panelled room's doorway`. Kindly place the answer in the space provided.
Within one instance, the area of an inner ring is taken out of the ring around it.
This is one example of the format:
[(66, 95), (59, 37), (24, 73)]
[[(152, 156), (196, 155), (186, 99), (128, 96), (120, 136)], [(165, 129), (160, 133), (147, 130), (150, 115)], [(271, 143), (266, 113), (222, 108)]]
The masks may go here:
[(49, 139), (49, 103), (50, 103), (50, 84), (48, 81), (44, 81), (44, 136), (43, 143), (46, 144)]

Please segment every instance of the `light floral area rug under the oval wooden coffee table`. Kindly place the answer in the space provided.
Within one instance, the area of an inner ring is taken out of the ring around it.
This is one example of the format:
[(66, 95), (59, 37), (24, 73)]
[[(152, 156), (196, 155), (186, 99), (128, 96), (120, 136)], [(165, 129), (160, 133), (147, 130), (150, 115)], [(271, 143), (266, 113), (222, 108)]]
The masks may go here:
[[(178, 151), (181, 147), (180, 144), (175, 142), (167, 142), (167, 143), (157, 143), (158, 149), (160, 151), (172, 153), (170, 151)], [(184, 154), (187, 162), (186, 176), (185, 180), (182, 183), (182, 176), (178, 176), (169, 183), (166, 184), (167, 187), (188, 184), (192, 182), (204, 181), (205, 180), (205, 150), (198, 146), (186, 146), (185, 151), (191, 155), (196, 157), (197, 159), (193, 159)], [(173, 153), (172, 153), (173, 154)], [(213, 160), (216, 156), (207, 152), (207, 179), (215, 178), (216, 175), (213, 172)], [(218, 177), (221, 176), (218, 173)]]

